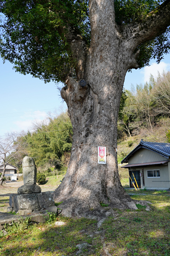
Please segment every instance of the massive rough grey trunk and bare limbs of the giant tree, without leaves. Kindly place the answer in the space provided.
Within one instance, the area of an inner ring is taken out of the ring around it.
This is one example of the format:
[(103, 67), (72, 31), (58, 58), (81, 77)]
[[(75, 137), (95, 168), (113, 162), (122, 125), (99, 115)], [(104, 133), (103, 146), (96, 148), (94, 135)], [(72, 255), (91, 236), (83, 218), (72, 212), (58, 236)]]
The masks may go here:
[[(81, 36), (70, 43), (78, 63), (78, 80), (85, 79), (87, 85), (82, 88), (79, 81), (68, 76), (61, 90), (74, 135), (67, 174), (55, 190), (54, 199), (63, 201), (60, 207), (67, 216), (99, 210), (101, 201), (120, 209), (134, 207), (118, 175), (118, 111), (126, 72), (137, 68), (139, 52), (133, 54), (134, 50), (141, 42), (163, 33), (170, 24), (167, 17), (161, 30), (157, 13), (149, 14), (143, 23), (119, 27), (112, 0), (90, 0), (91, 45), (87, 48)], [(159, 26), (157, 34), (154, 24)], [(106, 164), (98, 164), (98, 146), (106, 147)]]

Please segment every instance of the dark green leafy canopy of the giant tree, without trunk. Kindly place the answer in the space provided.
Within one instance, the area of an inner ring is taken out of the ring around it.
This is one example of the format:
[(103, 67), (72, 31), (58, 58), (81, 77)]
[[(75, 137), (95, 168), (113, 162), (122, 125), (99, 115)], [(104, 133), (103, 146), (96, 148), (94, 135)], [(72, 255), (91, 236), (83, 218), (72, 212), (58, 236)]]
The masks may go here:
[[(161, 2), (156, 0), (115, 0), (115, 20), (121, 28), (145, 19)], [(5, 0), (0, 2), (0, 54), (14, 64), (17, 72), (55, 82), (76, 77), (76, 59), (70, 48), (71, 30), (91, 42), (88, 0)], [(170, 50), (170, 28), (155, 39), (141, 43), (139, 68), (157, 62)]]

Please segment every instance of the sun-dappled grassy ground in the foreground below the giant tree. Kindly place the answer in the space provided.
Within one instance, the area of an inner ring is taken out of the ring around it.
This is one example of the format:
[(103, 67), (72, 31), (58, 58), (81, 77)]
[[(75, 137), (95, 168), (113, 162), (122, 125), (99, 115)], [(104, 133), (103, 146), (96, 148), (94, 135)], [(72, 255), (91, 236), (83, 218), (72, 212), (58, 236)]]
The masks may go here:
[[(88, 243), (83, 256), (103, 255), (103, 240), (112, 256), (170, 255), (170, 192), (130, 190), (132, 198), (152, 202), (152, 211), (118, 210), (100, 229), (92, 219), (54, 217), (46, 223), (15, 224), (0, 239), (0, 256), (75, 256), (76, 244)], [(55, 221), (64, 221), (56, 226)]]

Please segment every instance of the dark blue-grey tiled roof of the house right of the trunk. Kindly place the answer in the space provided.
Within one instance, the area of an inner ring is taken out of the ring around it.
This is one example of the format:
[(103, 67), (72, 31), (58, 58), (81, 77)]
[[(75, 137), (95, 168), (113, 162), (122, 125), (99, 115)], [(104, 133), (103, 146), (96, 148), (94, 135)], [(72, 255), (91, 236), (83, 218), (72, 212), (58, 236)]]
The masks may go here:
[[(155, 152), (158, 152), (162, 155), (165, 155), (166, 157), (170, 157), (170, 143), (149, 142), (141, 140), (140, 143), (136, 146), (136, 148), (142, 148), (142, 146), (154, 150)], [(132, 154), (132, 152), (136, 151), (136, 148), (134, 148), (128, 155), (126, 155), (126, 157), (123, 158), (121, 163), (124, 163), (125, 160), (127, 160), (127, 158)]]

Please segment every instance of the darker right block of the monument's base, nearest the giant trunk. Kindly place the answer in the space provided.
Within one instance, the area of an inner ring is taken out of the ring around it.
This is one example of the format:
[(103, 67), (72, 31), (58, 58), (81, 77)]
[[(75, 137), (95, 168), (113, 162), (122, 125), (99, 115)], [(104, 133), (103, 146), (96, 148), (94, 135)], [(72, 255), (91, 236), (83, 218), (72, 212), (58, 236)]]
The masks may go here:
[(48, 207), (55, 206), (52, 193), (50, 191), (36, 194), (40, 208), (47, 209)]

